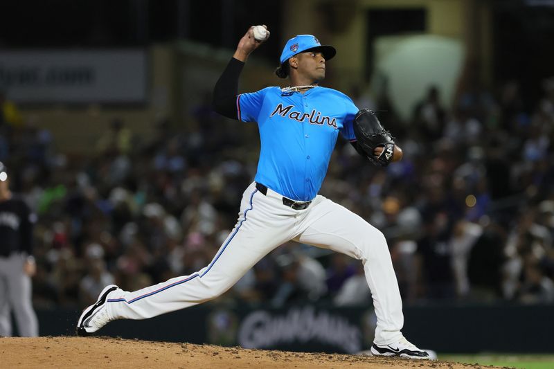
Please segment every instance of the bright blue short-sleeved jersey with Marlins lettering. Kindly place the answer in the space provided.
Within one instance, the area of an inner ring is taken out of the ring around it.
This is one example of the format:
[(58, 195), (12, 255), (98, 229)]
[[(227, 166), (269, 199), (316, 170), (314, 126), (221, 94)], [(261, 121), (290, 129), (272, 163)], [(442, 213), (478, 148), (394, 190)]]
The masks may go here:
[(238, 119), (257, 122), (260, 159), (256, 182), (296, 201), (316, 197), (339, 132), (355, 141), (358, 108), (344, 93), (314, 87), (283, 93), (267, 87), (237, 97)]

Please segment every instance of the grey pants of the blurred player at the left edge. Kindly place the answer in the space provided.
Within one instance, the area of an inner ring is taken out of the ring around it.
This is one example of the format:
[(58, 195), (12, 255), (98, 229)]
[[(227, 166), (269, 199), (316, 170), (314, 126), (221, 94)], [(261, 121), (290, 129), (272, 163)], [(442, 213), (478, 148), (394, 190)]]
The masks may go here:
[(19, 336), (36, 337), (39, 325), (32, 303), (30, 277), (23, 266), (26, 255), (12, 253), (8, 258), (0, 256), (0, 336), (12, 335), (10, 311), (17, 321)]

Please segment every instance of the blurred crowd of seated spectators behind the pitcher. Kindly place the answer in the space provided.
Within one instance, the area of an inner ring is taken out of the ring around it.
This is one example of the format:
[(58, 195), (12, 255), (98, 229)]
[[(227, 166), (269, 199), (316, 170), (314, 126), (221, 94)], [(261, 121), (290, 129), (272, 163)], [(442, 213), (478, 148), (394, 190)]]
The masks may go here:
[[(386, 92), (352, 90), (379, 111), (404, 159), (376, 168), (339, 139), (320, 193), (384, 232), (404, 301), (554, 303), (554, 79), (524, 107), (517, 82), (461, 94), (430, 87), (401, 120)], [(209, 94), (208, 94), (209, 95)], [(96, 154), (55, 150), (51, 134), (0, 99), (0, 161), (38, 215), (36, 307), (83, 307), (206, 266), (235, 225), (258, 157), (256, 125), (217, 116), (209, 96), (186, 127), (150, 141), (114, 118)], [(219, 303), (370, 303), (361, 262), (294, 242), (263, 258)]]

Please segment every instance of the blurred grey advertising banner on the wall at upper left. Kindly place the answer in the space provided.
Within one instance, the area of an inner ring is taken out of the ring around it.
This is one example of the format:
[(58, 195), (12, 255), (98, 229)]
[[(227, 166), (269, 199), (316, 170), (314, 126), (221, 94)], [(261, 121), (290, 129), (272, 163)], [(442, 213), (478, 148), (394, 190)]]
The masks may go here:
[(143, 50), (0, 52), (0, 89), (18, 103), (137, 103), (146, 99)]

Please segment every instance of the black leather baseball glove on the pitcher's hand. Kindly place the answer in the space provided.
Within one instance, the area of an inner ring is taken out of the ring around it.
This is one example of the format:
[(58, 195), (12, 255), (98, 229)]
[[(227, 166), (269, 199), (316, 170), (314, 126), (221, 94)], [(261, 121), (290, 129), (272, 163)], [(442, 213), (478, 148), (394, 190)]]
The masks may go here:
[[(375, 113), (361, 109), (354, 118), (354, 133), (357, 138), (357, 150), (362, 151), (375, 165), (386, 167), (394, 154), (394, 137), (383, 128)], [(383, 147), (379, 156), (373, 153), (377, 147)]]

